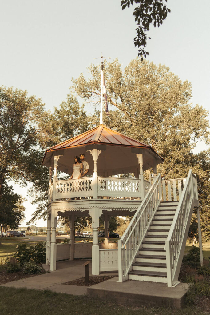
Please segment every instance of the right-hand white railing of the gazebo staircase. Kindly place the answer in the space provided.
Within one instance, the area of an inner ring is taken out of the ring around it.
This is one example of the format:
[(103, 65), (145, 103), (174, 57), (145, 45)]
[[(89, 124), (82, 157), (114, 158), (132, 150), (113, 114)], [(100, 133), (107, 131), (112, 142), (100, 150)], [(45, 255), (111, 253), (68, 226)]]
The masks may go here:
[(168, 287), (178, 281), (195, 202), (198, 207), (196, 175), (190, 170), (165, 245)]

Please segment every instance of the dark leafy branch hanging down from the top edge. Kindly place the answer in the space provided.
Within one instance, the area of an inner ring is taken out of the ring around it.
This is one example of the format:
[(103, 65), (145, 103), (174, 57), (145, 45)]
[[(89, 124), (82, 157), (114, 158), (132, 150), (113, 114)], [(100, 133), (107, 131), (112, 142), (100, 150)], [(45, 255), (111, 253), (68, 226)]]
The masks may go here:
[[(156, 27), (159, 27), (162, 24), (163, 20), (166, 19), (168, 12), (171, 12), (170, 9), (166, 7), (163, 3), (163, 0), (122, 0), (121, 7), (124, 10), (126, 7), (130, 7), (130, 4), (139, 3), (139, 6), (136, 7), (133, 11), (133, 16), (137, 24), (136, 33), (137, 36), (134, 38), (134, 46), (138, 46), (138, 57), (143, 56), (146, 58), (148, 51), (145, 51), (145, 46), (147, 44), (146, 32), (150, 29), (150, 24)], [(165, 0), (167, 2), (167, 0)], [(148, 37), (150, 39), (150, 37)]]

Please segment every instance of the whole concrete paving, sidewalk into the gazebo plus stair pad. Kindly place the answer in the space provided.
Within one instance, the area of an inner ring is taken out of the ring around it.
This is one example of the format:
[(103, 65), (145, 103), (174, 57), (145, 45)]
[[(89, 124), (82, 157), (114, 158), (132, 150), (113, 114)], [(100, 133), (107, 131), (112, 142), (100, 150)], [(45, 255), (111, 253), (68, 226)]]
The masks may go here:
[[(91, 287), (63, 284), (84, 277), (85, 260), (62, 261), (57, 263), (57, 270), (31, 278), (21, 279), (6, 284), (5, 287), (50, 290), (71, 295), (88, 295), (118, 304), (130, 306), (164, 306), (181, 308), (184, 306), (188, 286), (179, 283), (175, 288), (168, 288), (165, 283), (128, 280), (117, 282), (118, 272), (104, 272), (103, 275), (116, 275)], [(43, 265), (48, 271), (49, 266)], [(89, 263), (89, 276), (92, 264)]]

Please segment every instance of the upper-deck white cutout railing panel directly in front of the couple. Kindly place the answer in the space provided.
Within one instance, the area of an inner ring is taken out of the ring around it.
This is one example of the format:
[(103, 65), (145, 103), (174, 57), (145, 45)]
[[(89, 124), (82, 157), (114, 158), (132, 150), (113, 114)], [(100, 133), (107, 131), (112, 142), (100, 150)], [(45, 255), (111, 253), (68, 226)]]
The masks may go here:
[(57, 180), (55, 199), (93, 196), (93, 177)]

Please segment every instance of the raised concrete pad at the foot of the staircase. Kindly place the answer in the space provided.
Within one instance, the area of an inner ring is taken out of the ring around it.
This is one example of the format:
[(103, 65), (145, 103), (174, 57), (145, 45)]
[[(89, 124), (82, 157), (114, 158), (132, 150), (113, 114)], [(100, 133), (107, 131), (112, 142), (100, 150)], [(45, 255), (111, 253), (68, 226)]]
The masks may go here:
[(167, 284), (157, 282), (116, 281), (117, 278), (112, 278), (88, 287), (87, 295), (131, 306), (163, 306), (177, 309), (184, 306), (187, 284), (180, 283), (175, 288), (168, 288)]

